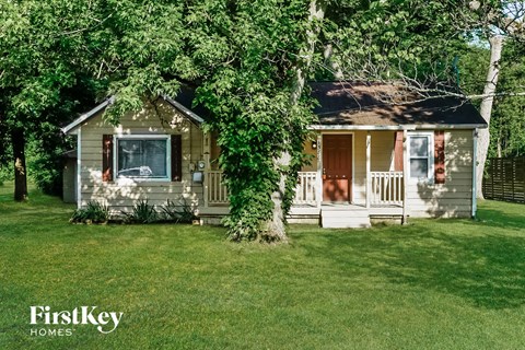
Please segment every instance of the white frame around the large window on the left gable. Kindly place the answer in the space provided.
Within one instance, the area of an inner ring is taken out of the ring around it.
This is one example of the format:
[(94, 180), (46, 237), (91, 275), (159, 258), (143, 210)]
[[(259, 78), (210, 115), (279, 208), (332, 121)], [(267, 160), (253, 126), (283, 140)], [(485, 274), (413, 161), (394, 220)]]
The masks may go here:
[[(118, 175), (118, 141), (119, 140), (165, 140), (166, 142), (166, 176), (143, 177)], [(172, 137), (171, 135), (114, 135), (113, 136), (113, 164), (115, 179), (131, 178), (136, 182), (171, 182), (172, 180)]]

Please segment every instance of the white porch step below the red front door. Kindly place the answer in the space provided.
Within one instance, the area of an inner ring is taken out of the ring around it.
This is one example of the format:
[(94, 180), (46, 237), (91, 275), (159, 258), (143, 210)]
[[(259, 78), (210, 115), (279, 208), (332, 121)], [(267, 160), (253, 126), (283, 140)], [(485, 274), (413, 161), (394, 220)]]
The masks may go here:
[(322, 225), (327, 229), (370, 228), (370, 215), (365, 208), (322, 208)]

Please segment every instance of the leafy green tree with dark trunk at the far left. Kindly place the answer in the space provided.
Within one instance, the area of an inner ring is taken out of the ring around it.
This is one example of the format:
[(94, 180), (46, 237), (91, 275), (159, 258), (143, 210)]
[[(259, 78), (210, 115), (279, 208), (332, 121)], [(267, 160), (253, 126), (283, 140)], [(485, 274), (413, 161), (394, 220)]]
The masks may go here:
[(15, 200), (27, 198), (28, 132), (38, 135), (46, 110), (67, 104), (63, 90), (89, 65), (80, 34), (94, 25), (90, 7), (62, 0), (0, 3), (0, 124), (12, 143)]

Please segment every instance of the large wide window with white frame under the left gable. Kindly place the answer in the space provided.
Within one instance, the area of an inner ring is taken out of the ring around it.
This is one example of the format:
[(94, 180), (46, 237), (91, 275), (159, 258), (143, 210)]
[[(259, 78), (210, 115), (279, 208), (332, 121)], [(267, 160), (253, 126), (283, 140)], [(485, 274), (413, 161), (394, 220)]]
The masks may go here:
[(117, 177), (170, 179), (170, 137), (116, 139)]

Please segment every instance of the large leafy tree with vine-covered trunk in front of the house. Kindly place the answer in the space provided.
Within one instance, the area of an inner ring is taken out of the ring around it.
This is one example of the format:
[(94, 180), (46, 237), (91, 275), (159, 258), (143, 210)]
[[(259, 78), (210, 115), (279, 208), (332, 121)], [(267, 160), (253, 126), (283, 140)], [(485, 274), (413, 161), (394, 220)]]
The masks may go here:
[[(284, 217), (312, 121), (304, 82), (323, 19), (306, 1), (101, 4), (108, 20), (90, 35), (116, 102), (114, 122), (143, 96), (198, 86), (219, 131), (234, 240), (284, 241)], [(109, 15), (110, 14), (110, 15)], [(90, 47), (93, 45), (90, 44)]]

